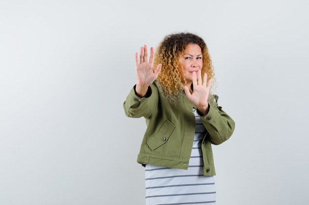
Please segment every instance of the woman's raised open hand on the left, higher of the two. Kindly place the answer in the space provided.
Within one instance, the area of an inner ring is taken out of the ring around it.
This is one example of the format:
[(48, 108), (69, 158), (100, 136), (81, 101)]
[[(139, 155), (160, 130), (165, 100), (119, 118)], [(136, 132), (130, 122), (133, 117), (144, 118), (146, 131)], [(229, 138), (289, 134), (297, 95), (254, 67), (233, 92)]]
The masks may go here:
[(140, 60), (138, 53), (135, 53), (136, 65), (136, 87), (135, 92), (138, 96), (144, 96), (147, 93), (148, 87), (154, 82), (161, 71), (162, 64), (158, 64), (154, 70), (154, 48), (150, 49), (150, 59), (148, 61), (147, 46), (141, 47)]

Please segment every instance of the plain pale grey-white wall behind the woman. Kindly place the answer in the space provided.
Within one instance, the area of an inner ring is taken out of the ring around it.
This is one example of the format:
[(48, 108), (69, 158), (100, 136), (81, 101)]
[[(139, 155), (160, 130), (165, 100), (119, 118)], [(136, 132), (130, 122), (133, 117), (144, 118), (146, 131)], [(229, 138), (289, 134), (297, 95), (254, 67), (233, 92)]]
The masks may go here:
[(0, 205), (143, 205), (134, 54), (208, 45), (232, 138), (217, 205), (309, 201), (307, 0), (0, 0)]

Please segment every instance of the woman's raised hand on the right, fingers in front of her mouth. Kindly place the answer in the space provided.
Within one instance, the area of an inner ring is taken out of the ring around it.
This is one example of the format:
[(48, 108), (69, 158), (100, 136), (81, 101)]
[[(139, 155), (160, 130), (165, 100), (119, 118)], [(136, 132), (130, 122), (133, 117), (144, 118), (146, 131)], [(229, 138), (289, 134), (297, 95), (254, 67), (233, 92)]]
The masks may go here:
[(201, 114), (207, 115), (209, 111), (208, 96), (211, 87), (211, 79), (209, 79), (207, 84), (207, 74), (205, 73), (202, 81), (201, 71), (199, 70), (197, 72), (197, 79), (196, 73), (193, 72), (192, 83), (192, 94), (190, 93), (189, 88), (185, 87), (186, 95)]

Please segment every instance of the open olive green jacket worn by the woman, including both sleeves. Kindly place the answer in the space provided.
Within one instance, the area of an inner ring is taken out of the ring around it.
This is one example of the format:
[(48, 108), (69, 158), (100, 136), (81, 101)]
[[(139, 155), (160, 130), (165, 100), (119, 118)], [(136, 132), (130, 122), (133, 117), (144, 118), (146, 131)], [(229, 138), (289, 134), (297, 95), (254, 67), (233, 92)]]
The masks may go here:
[[(135, 88), (135, 87), (134, 87)], [(185, 92), (179, 94), (176, 103), (169, 103), (156, 83), (147, 92), (147, 97), (138, 97), (132, 88), (123, 108), (127, 117), (145, 117), (147, 129), (142, 141), (137, 162), (143, 165), (188, 169), (195, 117), (193, 104)], [(206, 128), (202, 142), (204, 175), (216, 175), (211, 144), (219, 145), (228, 140), (235, 123), (217, 103), (218, 97), (210, 101), (206, 116), (198, 115)]]

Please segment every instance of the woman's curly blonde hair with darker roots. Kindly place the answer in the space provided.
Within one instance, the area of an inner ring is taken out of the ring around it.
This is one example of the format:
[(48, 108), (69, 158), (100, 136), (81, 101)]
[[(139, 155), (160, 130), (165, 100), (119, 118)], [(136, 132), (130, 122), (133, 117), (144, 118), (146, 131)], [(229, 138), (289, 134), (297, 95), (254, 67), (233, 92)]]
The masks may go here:
[[(207, 73), (207, 81), (214, 79), (214, 70), (208, 53), (208, 48), (204, 40), (193, 33), (173, 33), (163, 38), (154, 53), (154, 68), (161, 63), (162, 69), (156, 82), (160, 85), (166, 98), (174, 102), (177, 95), (182, 92), (186, 79), (181, 75), (183, 71), (180, 58), (186, 46), (197, 44), (201, 48), (203, 56), (202, 76)], [(211, 95), (209, 95), (211, 96)]]

